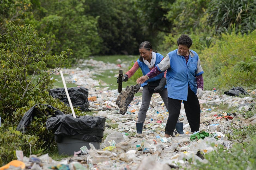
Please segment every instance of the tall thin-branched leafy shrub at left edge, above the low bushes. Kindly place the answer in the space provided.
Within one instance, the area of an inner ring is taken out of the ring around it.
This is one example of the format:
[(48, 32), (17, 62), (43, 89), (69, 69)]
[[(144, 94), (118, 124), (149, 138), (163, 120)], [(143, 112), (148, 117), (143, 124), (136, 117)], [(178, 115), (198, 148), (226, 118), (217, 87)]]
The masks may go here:
[[(38, 37), (33, 26), (16, 26), (7, 23), (7, 33), (0, 43), (0, 111), (3, 118), (11, 117), (12, 112), (31, 99), (37, 99), (49, 87), (49, 76), (62, 67), (69, 67), (67, 60), (72, 49), (60, 55), (45, 55), (45, 39)], [(0, 39), (1, 39), (0, 35)], [(54, 63), (54, 69), (47, 67)], [(47, 87), (48, 86), (48, 87)]]

